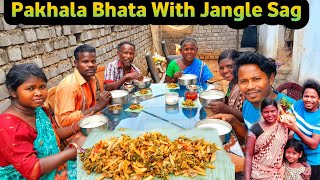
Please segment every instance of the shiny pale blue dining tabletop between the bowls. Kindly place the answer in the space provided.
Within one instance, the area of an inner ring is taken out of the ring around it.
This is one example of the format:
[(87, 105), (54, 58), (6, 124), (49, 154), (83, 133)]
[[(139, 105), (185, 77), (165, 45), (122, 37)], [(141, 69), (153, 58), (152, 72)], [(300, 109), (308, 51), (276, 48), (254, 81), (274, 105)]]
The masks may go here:
[[(212, 84), (199, 86), (198, 93), (214, 88), (215, 87)], [(129, 93), (128, 101), (123, 105), (123, 110), (119, 114), (112, 114), (109, 112), (108, 108), (105, 108), (102, 111), (109, 120), (108, 129), (105, 131), (105, 134), (123, 129), (129, 129), (130, 131), (137, 132), (162, 129), (179, 133), (194, 129), (196, 123), (206, 119), (208, 114), (210, 114), (210, 110), (201, 105), (199, 98), (194, 100), (194, 107), (182, 107), (182, 102), (185, 101), (184, 94), (188, 91), (185, 86), (168, 88), (165, 83), (157, 83), (151, 84), (148, 90), (150, 90), (151, 93), (148, 93), (147, 95), (141, 95), (137, 93), (138, 91)], [(177, 92), (179, 94), (179, 102), (176, 105), (167, 105), (165, 103), (165, 94), (167, 92)], [(140, 104), (143, 106), (143, 109), (139, 112), (126, 111), (132, 103)], [(97, 139), (103, 138), (104, 132), (99, 132), (98, 135), (92, 135), (96, 136), (94, 138), (90, 137), (90, 135), (91, 134), (89, 134), (86, 142), (84, 143), (84, 147), (92, 146), (93, 139), (97, 142)], [(222, 144), (221, 142), (219, 143)], [(226, 152), (239, 157), (244, 156), (240, 144), (234, 134), (231, 136), (230, 142), (226, 143), (224, 147)], [(78, 160), (78, 177), (83, 177), (84, 170), (79, 166), (81, 166), (81, 162)], [(87, 176), (85, 177), (88, 178)], [(234, 179), (234, 176), (231, 179)]]

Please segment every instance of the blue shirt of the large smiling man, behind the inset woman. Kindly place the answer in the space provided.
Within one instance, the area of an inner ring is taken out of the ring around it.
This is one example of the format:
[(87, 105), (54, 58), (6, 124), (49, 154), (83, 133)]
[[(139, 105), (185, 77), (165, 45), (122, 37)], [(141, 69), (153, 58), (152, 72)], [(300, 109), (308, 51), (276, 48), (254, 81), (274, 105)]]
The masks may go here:
[[(294, 99), (290, 98), (287, 95), (281, 94), (276, 91), (274, 91), (274, 93), (277, 94), (277, 97), (275, 100), (278, 104), (282, 98), (285, 98), (287, 101), (289, 101), (292, 104), (295, 102)], [(242, 107), (242, 116), (247, 128), (250, 129), (251, 126), (254, 123), (258, 122), (261, 118), (260, 108), (255, 108), (251, 102), (249, 102), (248, 100), (245, 100)]]

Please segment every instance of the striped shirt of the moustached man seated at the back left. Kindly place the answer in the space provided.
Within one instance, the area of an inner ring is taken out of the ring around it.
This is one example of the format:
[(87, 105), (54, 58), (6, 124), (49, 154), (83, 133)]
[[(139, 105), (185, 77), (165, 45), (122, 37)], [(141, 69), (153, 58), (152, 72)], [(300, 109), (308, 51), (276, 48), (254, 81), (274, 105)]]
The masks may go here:
[[(131, 72), (138, 72), (140, 70), (133, 64), (131, 64)], [(124, 71), (121, 67), (121, 62), (118, 58), (106, 65), (104, 72), (104, 83), (115, 82), (120, 80), (124, 76)]]

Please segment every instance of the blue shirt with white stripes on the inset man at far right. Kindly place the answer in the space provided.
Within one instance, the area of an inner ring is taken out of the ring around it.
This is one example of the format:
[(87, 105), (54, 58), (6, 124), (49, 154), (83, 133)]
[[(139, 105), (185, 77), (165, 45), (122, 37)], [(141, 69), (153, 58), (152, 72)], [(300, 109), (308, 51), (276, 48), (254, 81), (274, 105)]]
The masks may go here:
[[(296, 116), (296, 123), (300, 131), (308, 137), (312, 134), (320, 134), (320, 110), (308, 112), (304, 107), (302, 100), (297, 101), (291, 111)], [(300, 140), (299, 136), (294, 134), (294, 138)], [(320, 146), (317, 149), (311, 149), (303, 143), (304, 151), (307, 155), (307, 162), (312, 166), (320, 165)]]

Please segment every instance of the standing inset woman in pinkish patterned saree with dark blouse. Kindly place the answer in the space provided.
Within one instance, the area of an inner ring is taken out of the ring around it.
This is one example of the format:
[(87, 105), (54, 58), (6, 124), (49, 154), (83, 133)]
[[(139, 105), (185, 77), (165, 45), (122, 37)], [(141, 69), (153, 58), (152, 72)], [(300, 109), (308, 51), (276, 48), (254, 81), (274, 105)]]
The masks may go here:
[(288, 129), (278, 121), (274, 100), (267, 98), (261, 102), (261, 115), (262, 120), (251, 127), (247, 137), (245, 180), (280, 180)]

